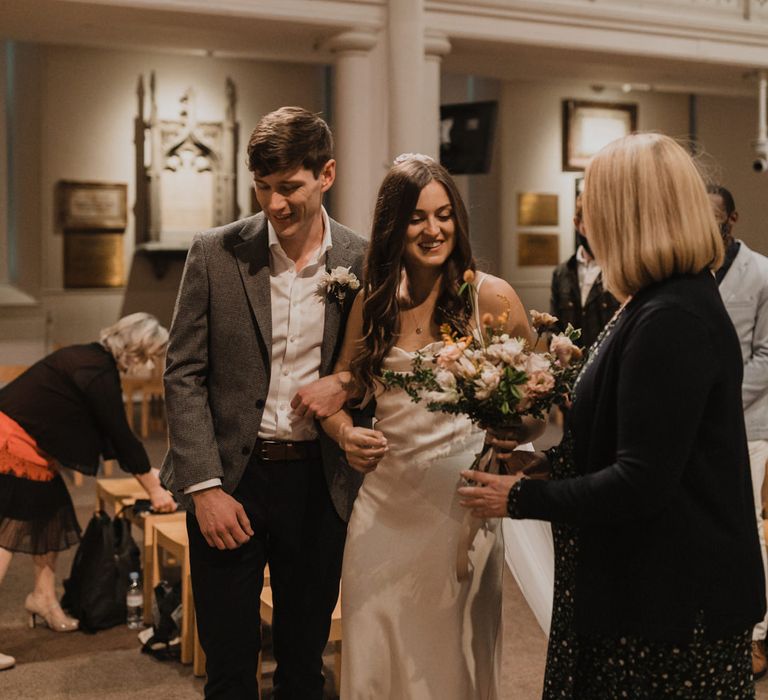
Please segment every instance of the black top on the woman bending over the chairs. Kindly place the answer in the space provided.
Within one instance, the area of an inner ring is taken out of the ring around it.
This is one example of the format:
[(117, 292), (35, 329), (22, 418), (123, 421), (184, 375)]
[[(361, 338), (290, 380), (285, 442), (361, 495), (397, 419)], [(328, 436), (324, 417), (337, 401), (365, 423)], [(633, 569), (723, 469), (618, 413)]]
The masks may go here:
[(0, 389), (10, 416), (61, 464), (94, 475), (99, 455), (132, 474), (150, 469), (125, 419), (120, 376), (99, 343), (70, 345), (44, 357)]

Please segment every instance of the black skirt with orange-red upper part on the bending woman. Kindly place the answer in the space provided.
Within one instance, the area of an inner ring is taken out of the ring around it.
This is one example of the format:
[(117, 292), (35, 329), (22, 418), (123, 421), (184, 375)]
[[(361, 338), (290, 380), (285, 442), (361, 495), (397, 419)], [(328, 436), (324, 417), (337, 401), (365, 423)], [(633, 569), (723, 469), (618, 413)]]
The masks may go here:
[(46, 554), (79, 540), (80, 525), (56, 462), (0, 413), (0, 547)]

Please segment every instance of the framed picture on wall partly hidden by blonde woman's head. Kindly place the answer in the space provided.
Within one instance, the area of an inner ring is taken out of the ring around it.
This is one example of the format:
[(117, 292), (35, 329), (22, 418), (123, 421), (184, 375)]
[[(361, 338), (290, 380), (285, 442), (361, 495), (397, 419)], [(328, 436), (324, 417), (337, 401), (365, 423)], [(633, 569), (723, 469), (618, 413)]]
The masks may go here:
[(603, 146), (636, 130), (634, 103), (563, 100), (563, 170), (584, 170)]

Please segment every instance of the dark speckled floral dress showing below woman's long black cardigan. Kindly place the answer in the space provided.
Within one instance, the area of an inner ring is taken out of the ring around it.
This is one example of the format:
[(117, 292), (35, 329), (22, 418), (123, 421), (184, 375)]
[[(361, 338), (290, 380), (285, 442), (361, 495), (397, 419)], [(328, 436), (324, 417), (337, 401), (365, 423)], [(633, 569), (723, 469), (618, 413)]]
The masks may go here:
[[(569, 438), (550, 454), (553, 478), (573, 472)], [(553, 524), (555, 590), (543, 700), (745, 700), (755, 697), (752, 631), (724, 639), (705, 637), (703, 616), (693, 639), (674, 644), (575, 632), (574, 584), (578, 529)]]

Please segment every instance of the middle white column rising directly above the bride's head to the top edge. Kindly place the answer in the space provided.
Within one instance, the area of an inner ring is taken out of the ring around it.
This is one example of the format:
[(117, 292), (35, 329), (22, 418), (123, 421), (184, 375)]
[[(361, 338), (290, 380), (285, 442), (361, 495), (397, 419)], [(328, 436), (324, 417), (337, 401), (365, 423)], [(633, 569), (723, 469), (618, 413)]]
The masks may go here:
[(424, 0), (389, 0), (390, 156), (423, 152)]

